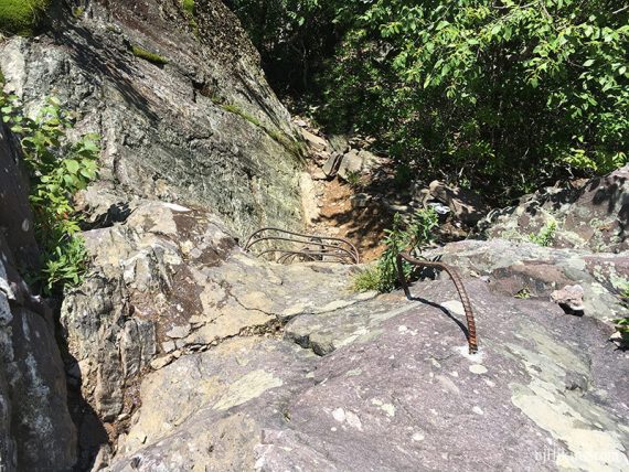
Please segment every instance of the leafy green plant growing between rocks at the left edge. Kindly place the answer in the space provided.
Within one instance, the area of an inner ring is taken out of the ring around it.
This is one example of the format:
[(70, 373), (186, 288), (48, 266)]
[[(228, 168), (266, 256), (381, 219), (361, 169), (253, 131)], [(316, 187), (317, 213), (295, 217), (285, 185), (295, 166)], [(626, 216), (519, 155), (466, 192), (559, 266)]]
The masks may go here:
[(72, 199), (97, 175), (98, 136), (70, 140), (72, 119), (54, 98), (31, 119), (23, 115), (18, 97), (0, 94), (0, 111), (2, 121), (21, 138), (31, 176), (29, 200), (43, 259), (36, 278), (49, 293), (78, 283), (87, 256)]

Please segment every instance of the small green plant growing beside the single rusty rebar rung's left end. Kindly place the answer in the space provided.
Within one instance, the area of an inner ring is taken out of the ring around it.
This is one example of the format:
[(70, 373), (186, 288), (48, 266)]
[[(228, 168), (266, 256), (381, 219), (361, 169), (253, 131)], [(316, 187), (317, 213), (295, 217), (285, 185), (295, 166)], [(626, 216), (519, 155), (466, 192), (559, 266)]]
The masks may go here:
[[(377, 290), (390, 292), (397, 286), (397, 255), (403, 250), (422, 251), (433, 243), (434, 229), (439, 221), (435, 210), (418, 210), (411, 223), (404, 227), (402, 215), (396, 213), (393, 217), (393, 227), (385, 230), (384, 244), (386, 249), (374, 267), (359, 273), (352, 283), (355, 291)], [(415, 268), (404, 261), (404, 277), (413, 277)]]

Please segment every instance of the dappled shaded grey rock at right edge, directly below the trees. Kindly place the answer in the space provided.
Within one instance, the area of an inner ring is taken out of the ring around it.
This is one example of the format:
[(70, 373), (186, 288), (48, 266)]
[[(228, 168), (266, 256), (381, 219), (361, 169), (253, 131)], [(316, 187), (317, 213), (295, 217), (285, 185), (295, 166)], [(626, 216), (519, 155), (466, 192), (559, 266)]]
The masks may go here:
[(480, 226), (489, 237), (526, 239), (553, 221), (557, 224), (554, 247), (596, 253), (629, 249), (629, 167), (579, 189), (548, 187), (527, 195), (518, 206), (491, 212)]

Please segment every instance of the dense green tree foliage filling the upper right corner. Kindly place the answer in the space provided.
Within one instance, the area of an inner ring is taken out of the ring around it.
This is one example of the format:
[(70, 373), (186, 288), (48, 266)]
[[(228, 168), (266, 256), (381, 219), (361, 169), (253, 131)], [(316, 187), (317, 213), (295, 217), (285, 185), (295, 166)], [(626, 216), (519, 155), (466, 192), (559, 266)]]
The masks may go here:
[(319, 120), (376, 136), (427, 173), (490, 182), (494, 196), (610, 171), (629, 148), (622, 7), (369, 2), (320, 81)]

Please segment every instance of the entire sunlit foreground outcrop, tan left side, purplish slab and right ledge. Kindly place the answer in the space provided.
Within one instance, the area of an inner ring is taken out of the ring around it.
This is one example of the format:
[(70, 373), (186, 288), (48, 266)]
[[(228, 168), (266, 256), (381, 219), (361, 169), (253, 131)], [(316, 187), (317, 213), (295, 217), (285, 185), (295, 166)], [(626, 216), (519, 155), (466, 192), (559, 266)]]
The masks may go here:
[[(83, 394), (115, 431), (95, 470), (629, 466), (629, 358), (601, 321), (627, 313), (607, 280), (626, 277), (622, 255), (440, 249), (471, 298), (470, 356), (449, 280), (414, 300), (352, 293), (352, 267), (254, 259), (207, 212), (111, 192), (83, 196), (96, 221), (128, 211), (86, 233), (93, 269), (62, 312)], [(530, 298), (513, 297), (524, 280)], [(550, 300), (577, 280), (580, 318)]]

